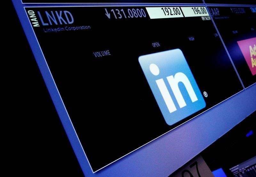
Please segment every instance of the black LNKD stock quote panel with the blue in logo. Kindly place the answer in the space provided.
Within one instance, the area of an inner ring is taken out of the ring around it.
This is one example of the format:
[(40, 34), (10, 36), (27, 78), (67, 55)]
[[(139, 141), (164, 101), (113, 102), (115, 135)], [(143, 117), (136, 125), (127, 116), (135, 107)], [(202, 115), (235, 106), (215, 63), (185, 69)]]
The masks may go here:
[(25, 10), (93, 172), (243, 90), (205, 7)]

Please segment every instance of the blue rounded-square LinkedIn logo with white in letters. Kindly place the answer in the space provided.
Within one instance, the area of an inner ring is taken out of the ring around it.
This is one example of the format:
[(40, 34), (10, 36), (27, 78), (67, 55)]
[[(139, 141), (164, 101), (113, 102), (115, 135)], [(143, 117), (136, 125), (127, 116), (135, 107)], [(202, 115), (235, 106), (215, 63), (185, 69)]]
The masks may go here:
[(168, 125), (205, 107), (204, 98), (180, 49), (143, 55), (139, 62)]

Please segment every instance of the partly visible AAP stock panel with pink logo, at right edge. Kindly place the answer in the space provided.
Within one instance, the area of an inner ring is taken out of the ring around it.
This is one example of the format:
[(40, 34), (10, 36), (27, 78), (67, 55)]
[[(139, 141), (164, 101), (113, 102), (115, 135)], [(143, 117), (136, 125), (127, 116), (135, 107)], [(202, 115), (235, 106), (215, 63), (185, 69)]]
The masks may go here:
[(256, 82), (256, 7), (208, 7), (247, 88)]

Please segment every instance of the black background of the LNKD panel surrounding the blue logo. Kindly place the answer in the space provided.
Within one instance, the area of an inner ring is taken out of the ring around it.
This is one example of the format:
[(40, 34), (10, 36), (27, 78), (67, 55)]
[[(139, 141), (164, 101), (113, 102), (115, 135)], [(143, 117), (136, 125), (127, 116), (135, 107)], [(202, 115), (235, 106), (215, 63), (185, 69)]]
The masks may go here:
[[(72, 26), (92, 29), (56, 33), (34, 29), (94, 171), (243, 89), (211, 21), (201, 17), (108, 20), (100, 7), (59, 8), (63, 9), (74, 16)], [(195, 41), (189, 41), (190, 36)], [(157, 41), (161, 47), (153, 48), (152, 42)], [(169, 126), (138, 57), (175, 48), (182, 50), (208, 97), (206, 108)], [(92, 52), (101, 50), (112, 55), (94, 58)]]

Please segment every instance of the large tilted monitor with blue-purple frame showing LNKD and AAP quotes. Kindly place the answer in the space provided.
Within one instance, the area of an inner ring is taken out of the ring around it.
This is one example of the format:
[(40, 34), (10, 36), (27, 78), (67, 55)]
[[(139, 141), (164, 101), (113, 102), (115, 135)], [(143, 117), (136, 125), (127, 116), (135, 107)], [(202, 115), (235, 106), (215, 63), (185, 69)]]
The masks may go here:
[(255, 2), (217, 3), (13, 0), (85, 176), (168, 176), (256, 110)]

